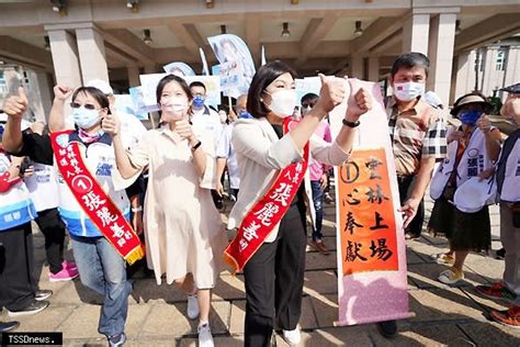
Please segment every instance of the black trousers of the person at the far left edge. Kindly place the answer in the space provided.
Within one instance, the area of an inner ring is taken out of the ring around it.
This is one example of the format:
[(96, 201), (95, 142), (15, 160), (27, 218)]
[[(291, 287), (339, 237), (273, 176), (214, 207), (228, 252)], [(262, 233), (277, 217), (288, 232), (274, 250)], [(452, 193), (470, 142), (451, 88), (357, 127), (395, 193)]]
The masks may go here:
[(34, 255), (31, 223), (0, 231), (0, 307), (18, 311), (34, 300)]

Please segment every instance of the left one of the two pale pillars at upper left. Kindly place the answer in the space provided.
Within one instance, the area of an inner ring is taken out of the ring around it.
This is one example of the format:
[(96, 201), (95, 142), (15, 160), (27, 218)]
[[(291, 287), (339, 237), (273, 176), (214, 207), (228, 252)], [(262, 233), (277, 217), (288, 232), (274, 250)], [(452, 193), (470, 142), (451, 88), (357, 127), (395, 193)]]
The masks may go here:
[(82, 85), (76, 38), (65, 30), (49, 30), (56, 83), (76, 88)]

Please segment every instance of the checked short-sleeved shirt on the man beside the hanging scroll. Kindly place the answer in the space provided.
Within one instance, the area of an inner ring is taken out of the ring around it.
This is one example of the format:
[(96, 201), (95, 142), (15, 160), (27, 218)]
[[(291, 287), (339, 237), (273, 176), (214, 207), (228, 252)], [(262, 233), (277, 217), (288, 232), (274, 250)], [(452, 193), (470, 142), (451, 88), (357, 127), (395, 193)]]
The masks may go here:
[(421, 158), (445, 157), (446, 128), (441, 112), (420, 99), (414, 108), (399, 112), (395, 99), (388, 99), (386, 114), (397, 175), (416, 175)]

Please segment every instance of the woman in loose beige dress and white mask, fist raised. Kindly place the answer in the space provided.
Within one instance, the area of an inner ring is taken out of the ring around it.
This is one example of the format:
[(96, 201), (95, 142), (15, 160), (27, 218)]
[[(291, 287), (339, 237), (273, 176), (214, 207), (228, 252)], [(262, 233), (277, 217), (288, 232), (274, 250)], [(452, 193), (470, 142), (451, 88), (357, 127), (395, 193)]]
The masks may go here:
[(162, 78), (157, 101), (165, 125), (149, 131), (134, 148), (124, 149), (115, 115), (103, 120), (103, 130), (113, 137), (123, 178), (133, 178), (148, 167), (144, 215), (148, 264), (158, 284), (166, 273), (168, 283), (176, 282), (189, 293), (188, 316), (195, 318), (200, 313), (199, 345), (213, 346), (211, 289), (227, 243), (210, 191), (214, 188), (214, 146), (204, 139), (203, 130), (189, 123), (192, 94), (182, 78)]

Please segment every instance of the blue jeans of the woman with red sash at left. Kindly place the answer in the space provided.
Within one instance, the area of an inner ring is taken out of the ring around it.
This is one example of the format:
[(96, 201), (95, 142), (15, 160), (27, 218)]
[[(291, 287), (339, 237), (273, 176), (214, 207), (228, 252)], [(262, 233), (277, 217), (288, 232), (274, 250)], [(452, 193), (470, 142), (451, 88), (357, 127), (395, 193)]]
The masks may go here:
[(125, 260), (104, 237), (71, 238), (81, 283), (104, 295), (98, 332), (108, 337), (124, 333), (132, 291)]

